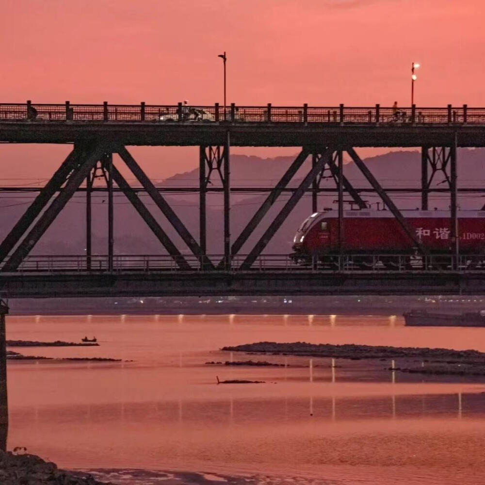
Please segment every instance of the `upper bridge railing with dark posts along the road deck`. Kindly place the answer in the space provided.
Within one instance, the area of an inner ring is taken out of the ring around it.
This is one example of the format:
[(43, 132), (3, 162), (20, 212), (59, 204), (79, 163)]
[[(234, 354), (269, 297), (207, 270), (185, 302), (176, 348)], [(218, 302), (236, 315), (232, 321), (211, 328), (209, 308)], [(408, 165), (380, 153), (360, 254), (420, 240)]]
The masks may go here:
[(210, 106), (123, 104), (0, 103), (0, 121), (73, 122), (231, 122), (231, 123), (324, 123), (353, 125), (485, 124), (485, 108), (467, 105), (391, 108), (339, 106)]

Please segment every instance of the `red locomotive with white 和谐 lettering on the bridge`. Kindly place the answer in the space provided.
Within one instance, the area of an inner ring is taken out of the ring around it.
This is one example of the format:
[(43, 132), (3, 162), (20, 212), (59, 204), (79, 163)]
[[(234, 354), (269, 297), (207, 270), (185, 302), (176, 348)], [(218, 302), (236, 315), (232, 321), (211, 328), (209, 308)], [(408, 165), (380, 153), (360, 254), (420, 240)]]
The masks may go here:
[[(429, 255), (453, 254), (450, 210), (403, 210)], [(461, 255), (485, 253), (485, 210), (459, 210)], [(404, 232), (390, 210), (344, 210), (339, 241), (338, 210), (311, 214), (296, 231), (292, 258), (299, 263), (328, 259), (332, 255), (415, 255), (416, 243)]]

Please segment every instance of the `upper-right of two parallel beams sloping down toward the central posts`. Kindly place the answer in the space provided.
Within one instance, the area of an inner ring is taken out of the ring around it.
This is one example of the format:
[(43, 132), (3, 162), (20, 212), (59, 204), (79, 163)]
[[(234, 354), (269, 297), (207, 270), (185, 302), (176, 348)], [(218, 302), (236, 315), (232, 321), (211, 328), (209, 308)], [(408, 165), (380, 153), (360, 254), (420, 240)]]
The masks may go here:
[(203, 262), (206, 266), (213, 267), (210, 260), (204, 255), (200, 246), (195, 242), (192, 234), (185, 227), (183, 222), (178, 218), (178, 215), (170, 207), (167, 201), (163, 198), (162, 194), (155, 188), (152, 181), (146, 176), (145, 172), (141, 169), (140, 165), (132, 157), (129, 151), (124, 146), (118, 146), (116, 148), (119, 156), (127, 164), (128, 168), (131, 170), (133, 175), (142, 184), (143, 188), (146, 190), (147, 194), (151, 197), (153, 202), (162, 211), (163, 215), (168, 219), (170, 224), (177, 231), (178, 235), (182, 238), (183, 242), (187, 244), (187, 247), (192, 251), (195, 256), (203, 258)]

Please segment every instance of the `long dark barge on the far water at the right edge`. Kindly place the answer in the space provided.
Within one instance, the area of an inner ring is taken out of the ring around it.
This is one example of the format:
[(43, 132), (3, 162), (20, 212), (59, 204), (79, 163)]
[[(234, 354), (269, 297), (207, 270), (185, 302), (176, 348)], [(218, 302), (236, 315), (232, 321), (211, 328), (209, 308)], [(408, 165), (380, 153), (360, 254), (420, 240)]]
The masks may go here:
[(455, 314), (410, 310), (403, 313), (403, 316), (406, 326), (485, 327), (485, 310)]

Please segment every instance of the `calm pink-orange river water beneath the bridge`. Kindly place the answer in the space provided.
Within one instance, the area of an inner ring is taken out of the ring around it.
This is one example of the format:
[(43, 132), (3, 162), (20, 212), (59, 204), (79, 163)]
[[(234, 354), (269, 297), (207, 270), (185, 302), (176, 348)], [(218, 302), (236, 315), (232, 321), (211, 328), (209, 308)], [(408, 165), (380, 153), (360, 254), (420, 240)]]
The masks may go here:
[[(485, 351), (485, 328), (406, 328), (400, 317), (369, 315), (7, 320), (8, 339), (85, 335), (101, 345), (20, 352), (126, 361), (9, 362), (9, 448), (65, 468), (206, 472), (207, 483), (485, 482), (485, 379), (393, 376), (381, 361), (337, 360), (332, 369), (312, 359), (310, 369), (308, 358), (218, 350), (272, 340)], [(249, 358), (289, 367), (205, 364)], [(217, 386), (216, 375), (266, 384)], [(141, 480), (159, 483), (153, 476)], [(138, 482), (128, 474), (119, 483)]]

